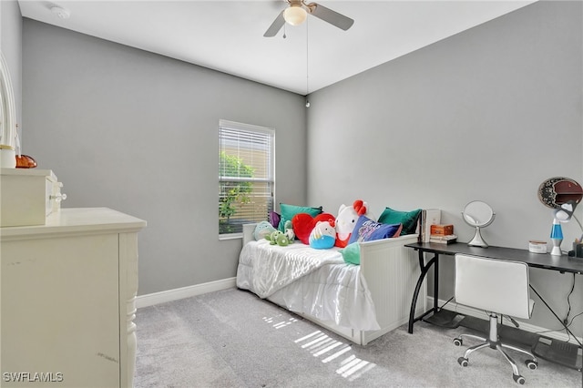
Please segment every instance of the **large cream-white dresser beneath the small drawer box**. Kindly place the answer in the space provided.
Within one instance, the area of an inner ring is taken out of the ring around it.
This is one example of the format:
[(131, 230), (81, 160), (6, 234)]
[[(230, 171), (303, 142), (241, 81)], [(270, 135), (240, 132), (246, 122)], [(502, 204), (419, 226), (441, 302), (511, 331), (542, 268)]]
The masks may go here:
[(0, 385), (132, 386), (145, 226), (88, 208), (0, 228)]

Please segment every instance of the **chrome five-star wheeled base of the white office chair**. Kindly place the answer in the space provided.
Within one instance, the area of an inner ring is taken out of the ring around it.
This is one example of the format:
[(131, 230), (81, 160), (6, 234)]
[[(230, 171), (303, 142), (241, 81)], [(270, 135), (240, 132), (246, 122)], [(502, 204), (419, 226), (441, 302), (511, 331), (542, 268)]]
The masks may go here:
[(528, 356), (532, 357), (531, 359), (528, 359), (527, 361), (525, 361), (528, 369), (532, 369), (532, 370), (537, 369), (537, 367), (538, 367), (537, 357), (532, 352), (527, 352), (526, 350), (517, 348), (516, 346), (512, 346), (512, 345), (508, 345), (506, 343), (500, 342), (500, 339), (498, 338), (497, 326), (498, 326), (497, 316), (496, 316), (496, 314), (491, 314), (490, 315), (489, 338), (484, 338), (484, 337), (480, 337), (478, 335), (473, 335), (473, 334), (460, 334), (458, 337), (456, 337), (454, 339), (455, 346), (462, 346), (462, 344), (464, 343), (464, 340), (463, 340), (464, 337), (472, 338), (472, 339), (475, 339), (478, 341), (482, 341), (482, 343), (478, 343), (477, 345), (474, 345), (474, 346), (467, 348), (465, 350), (464, 356), (458, 358), (457, 362), (462, 366), (467, 366), (469, 355), (472, 352), (476, 352), (477, 350), (486, 348), (486, 346), (487, 346), (491, 349), (496, 349), (498, 352), (502, 353), (504, 358), (506, 358), (506, 361), (509, 362), (510, 365), (512, 366), (512, 378), (514, 379), (514, 381), (516, 383), (519, 383), (519, 384), (524, 384), (525, 378), (518, 371), (517, 362), (515, 362), (512, 359), (512, 357), (510, 357), (508, 355), (508, 353), (504, 350), (504, 348), (511, 349), (513, 351), (516, 351), (516, 352), (521, 352), (521, 353), (527, 354)]

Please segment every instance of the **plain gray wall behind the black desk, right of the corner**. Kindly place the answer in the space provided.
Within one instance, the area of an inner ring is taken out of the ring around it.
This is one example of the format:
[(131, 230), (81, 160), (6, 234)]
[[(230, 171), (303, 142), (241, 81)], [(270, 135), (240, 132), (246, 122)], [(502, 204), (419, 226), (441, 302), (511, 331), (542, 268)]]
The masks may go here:
[[(473, 230), (460, 211), (482, 199), (496, 210), (483, 232), (490, 244), (550, 243), (539, 184), (583, 183), (581, 15), (580, 2), (528, 5), (312, 94), (309, 203), (336, 211), (364, 199), (377, 216), (385, 206), (439, 208), (467, 241)], [(581, 230), (576, 222), (563, 230), (567, 249)], [(448, 299), (453, 260), (442, 263)], [(533, 270), (531, 281), (564, 318), (573, 276)], [(583, 311), (582, 295), (578, 276), (572, 312)], [(537, 305), (532, 323), (559, 327)]]

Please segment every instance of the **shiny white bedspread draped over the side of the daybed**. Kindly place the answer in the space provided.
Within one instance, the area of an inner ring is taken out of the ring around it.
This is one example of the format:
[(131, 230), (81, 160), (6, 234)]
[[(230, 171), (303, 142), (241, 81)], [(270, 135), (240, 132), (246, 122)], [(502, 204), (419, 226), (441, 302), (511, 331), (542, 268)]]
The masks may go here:
[(251, 241), (240, 252), (237, 287), (322, 321), (378, 330), (373, 299), (360, 269), (344, 263), (338, 249)]

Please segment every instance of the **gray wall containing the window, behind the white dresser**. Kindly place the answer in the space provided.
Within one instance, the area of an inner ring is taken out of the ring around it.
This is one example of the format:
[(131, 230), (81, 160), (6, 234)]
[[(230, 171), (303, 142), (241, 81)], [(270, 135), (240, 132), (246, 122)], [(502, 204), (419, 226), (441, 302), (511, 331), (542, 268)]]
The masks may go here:
[(64, 183), (63, 206), (148, 221), (139, 294), (235, 276), (241, 240), (218, 237), (220, 118), (275, 128), (277, 200), (305, 202), (303, 97), (30, 19), (23, 63), (23, 149)]

